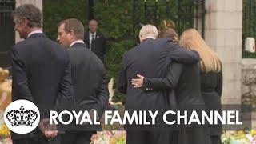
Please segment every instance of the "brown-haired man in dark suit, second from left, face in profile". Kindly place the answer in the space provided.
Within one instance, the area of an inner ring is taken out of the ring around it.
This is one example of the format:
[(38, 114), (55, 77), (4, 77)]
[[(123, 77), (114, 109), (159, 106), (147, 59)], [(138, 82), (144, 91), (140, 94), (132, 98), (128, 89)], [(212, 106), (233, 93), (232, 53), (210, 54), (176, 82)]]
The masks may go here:
[[(103, 114), (109, 99), (106, 69), (102, 61), (82, 41), (84, 27), (82, 22), (71, 18), (60, 22), (58, 42), (68, 48), (71, 61), (71, 73), (74, 83), (74, 98), (81, 110), (97, 110)], [(98, 128), (85, 131), (66, 131), (62, 144), (90, 143), (92, 134)], [(100, 127), (101, 129), (101, 127)]]

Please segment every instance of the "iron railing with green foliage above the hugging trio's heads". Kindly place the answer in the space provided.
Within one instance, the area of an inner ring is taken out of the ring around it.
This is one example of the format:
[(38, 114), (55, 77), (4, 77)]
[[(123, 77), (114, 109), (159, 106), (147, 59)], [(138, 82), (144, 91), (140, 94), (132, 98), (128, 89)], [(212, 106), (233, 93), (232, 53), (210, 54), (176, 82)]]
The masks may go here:
[(161, 27), (163, 21), (173, 22), (178, 34), (196, 28), (204, 36), (205, 0), (134, 0), (133, 5), (134, 44), (142, 25), (150, 23)]

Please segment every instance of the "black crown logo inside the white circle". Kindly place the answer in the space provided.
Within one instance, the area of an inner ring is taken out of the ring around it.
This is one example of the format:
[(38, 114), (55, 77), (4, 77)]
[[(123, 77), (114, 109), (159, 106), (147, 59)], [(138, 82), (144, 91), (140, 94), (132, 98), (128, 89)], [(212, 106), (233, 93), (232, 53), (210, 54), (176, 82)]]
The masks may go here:
[(23, 106), (19, 110), (10, 110), (6, 113), (6, 118), (12, 126), (32, 126), (38, 119), (38, 113), (34, 110), (25, 110)]

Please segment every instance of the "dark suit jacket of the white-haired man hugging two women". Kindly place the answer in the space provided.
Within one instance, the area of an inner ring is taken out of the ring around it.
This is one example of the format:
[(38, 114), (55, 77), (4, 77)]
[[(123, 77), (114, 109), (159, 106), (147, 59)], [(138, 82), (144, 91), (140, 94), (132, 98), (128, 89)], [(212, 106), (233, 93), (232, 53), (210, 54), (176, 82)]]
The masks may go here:
[(122, 93), (127, 92), (127, 110), (166, 110), (175, 104), (174, 95), (169, 96), (169, 92), (146, 93), (142, 89), (134, 88), (130, 82), (136, 74), (142, 74), (147, 78), (165, 77), (170, 60), (194, 63), (200, 61), (200, 58), (198, 53), (181, 48), (178, 44), (170, 42), (169, 38), (147, 38), (123, 56), (118, 90)]

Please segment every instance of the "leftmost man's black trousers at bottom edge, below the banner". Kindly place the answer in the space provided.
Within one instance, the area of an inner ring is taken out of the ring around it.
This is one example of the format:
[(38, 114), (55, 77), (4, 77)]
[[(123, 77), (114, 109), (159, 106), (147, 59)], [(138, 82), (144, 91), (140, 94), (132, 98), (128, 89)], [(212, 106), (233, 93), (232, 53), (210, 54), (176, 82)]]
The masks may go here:
[(13, 144), (61, 144), (60, 136), (55, 138), (23, 138), (18, 140), (13, 140)]

